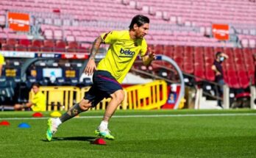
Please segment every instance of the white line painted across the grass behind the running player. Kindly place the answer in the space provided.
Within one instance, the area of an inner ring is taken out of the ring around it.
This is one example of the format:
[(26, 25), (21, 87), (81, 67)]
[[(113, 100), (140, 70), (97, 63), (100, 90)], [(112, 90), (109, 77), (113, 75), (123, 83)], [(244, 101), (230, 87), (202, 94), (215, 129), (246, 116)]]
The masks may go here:
[[(210, 117), (210, 116), (255, 116), (256, 113), (224, 114), (174, 114), (174, 115), (114, 115), (113, 118), (166, 118), (166, 117)], [(80, 116), (79, 118), (102, 118), (102, 116)], [(0, 118), (0, 120), (43, 120), (48, 118)]]

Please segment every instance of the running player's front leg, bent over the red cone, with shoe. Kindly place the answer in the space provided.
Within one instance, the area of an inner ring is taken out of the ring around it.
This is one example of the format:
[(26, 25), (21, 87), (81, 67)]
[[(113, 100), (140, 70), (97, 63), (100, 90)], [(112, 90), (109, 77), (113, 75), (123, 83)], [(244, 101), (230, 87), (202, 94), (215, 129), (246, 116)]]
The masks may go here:
[(114, 140), (115, 138), (113, 135), (110, 134), (110, 130), (108, 129), (108, 122), (110, 121), (110, 118), (115, 113), (115, 109), (117, 109), (118, 105), (121, 104), (122, 101), (124, 101), (124, 91), (123, 90), (117, 90), (115, 93), (111, 94), (111, 100), (109, 104), (107, 105), (107, 109), (104, 112), (104, 117), (102, 119), (102, 122), (99, 125), (99, 128), (96, 129), (96, 134), (99, 134), (99, 136), (102, 136), (104, 138)]

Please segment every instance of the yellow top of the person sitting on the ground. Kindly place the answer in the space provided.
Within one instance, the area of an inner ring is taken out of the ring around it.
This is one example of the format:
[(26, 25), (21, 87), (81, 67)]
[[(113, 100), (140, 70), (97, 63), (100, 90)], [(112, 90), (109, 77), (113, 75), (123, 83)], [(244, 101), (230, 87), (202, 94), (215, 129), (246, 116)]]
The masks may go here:
[(31, 102), (33, 104), (31, 107), (33, 111), (46, 111), (46, 97), (42, 92), (36, 93)]

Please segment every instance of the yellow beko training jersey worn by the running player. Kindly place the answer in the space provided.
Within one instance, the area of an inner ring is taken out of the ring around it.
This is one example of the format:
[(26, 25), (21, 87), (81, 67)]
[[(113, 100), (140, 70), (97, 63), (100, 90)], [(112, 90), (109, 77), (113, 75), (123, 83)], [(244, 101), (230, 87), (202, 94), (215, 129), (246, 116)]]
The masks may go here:
[(99, 62), (97, 70), (109, 71), (121, 83), (138, 54), (146, 54), (146, 40), (132, 40), (128, 30), (103, 33), (101, 37), (104, 43), (110, 44), (110, 47), (106, 57)]

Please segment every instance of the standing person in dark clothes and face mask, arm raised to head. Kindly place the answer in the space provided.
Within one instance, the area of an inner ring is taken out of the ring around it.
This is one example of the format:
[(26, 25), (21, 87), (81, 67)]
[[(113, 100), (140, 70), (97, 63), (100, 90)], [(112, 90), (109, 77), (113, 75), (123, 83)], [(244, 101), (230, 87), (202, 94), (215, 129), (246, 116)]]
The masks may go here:
[(221, 51), (218, 51), (216, 53), (216, 59), (213, 62), (212, 70), (215, 72), (215, 82), (218, 83), (218, 86), (216, 88), (216, 93), (218, 96), (218, 106), (222, 107), (221, 105), (221, 97), (223, 95), (223, 85), (225, 84), (223, 79), (223, 69), (221, 63), (224, 62), (224, 60), (228, 59), (227, 54), (224, 54)]

